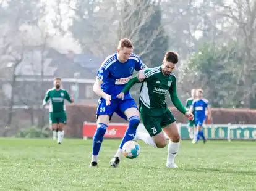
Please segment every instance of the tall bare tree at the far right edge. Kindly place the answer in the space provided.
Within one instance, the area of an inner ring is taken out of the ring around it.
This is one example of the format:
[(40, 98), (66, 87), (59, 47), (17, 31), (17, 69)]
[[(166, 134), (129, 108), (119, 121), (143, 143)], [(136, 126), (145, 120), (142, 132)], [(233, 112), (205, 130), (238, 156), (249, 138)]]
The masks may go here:
[[(224, 8), (220, 15), (229, 19), (237, 30), (232, 30), (233, 34), (239, 42), (241, 54), (243, 56), (241, 75), (237, 78), (237, 86), (234, 95), (237, 92), (242, 92), (242, 100), (244, 107), (250, 107), (250, 99), (255, 93), (256, 81), (254, 80), (254, 71), (256, 68), (255, 62), (255, 47), (256, 47), (256, 2), (239, 0), (234, 1), (232, 4), (221, 4)], [(243, 52), (243, 53), (242, 53)]]

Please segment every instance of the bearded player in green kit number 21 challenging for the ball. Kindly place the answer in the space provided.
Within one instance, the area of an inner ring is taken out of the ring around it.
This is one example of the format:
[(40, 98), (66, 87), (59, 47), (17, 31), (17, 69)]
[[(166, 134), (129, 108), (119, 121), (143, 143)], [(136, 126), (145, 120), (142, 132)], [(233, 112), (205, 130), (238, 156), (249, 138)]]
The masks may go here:
[[(122, 92), (117, 95), (124, 97), (135, 83), (143, 81), (140, 89), (140, 116), (148, 133), (137, 132), (137, 138), (157, 148), (164, 148), (168, 142), (163, 131), (169, 137), (166, 167), (177, 168), (174, 158), (179, 150), (179, 132), (176, 120), (166, 105), (165, 96), (169, 92), (174, 106), (190, 120), (193, 114), (186, 110), (177, 97), (176, 76), (174, 70), (178, 56), (175, 52), (166, 52), (160, 67), (139, 71), (138, 76), (130, 79)], [(163, 131), (162, 131), (163, 129)]]

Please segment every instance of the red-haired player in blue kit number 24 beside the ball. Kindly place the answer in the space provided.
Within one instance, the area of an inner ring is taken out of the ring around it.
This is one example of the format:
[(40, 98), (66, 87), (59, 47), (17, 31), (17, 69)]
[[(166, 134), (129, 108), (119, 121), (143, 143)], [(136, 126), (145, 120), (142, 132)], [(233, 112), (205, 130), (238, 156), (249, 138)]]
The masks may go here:
[(121, 118), (128, 120), (129, 126), (116, 155), (110, 161), (110, 165), (113, 167), (117, 167), (122, 154), (122, 146), (127, 141), (134, 139), (137, 126), (140, 123), (139, 110), (130, 93), (127, 92), (125, 94), (124, 100), (117, 98), (125, 84), (132, 78), (134, 70), (139, 71), (146, 68), (146, 65), (132, 51), (132, 42), (126, 38), (121, 39), (117, 46), (117, 53), (106, 57), (98, 70), (93, 91), (100, 96), (100, 99), (96, 111), (97, 129), (93, 136), (90, 167), (98, 165), (98, 154), (103, 142), (103, 136), (114, 112)]

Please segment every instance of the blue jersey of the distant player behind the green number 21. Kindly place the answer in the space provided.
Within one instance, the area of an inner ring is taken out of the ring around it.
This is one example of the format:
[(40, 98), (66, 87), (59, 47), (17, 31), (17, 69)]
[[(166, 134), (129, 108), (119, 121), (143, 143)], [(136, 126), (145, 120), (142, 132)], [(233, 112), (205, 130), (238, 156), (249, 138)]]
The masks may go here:
[(192, 103), (193, 111), (195, 113), (195, 120), (198, 118), (205, 119), (205, 109), (208, 107), (207, 99), (196, 99)]

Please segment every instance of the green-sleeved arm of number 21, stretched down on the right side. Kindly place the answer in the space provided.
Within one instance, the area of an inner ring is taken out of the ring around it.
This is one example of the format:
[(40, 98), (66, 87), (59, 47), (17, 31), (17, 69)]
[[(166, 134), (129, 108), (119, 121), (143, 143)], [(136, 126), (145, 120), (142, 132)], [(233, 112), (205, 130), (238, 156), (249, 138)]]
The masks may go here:
[(191, 112), (187, 111), (184, 105), (182, 104), (181, 100), (177, 96), (177, 91), (176, 91), (176, 80), (173, 81), (173, 84), (171, 84), (171, 87), (169, 87), (169, 94), (171, 97), (171, 102), (173, 102), (173, 105), (179, 110), (181, 113), (187, 116), (189, 119), (193, 119), (194, 116)]

